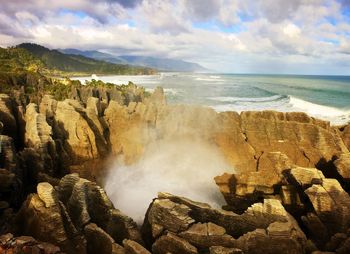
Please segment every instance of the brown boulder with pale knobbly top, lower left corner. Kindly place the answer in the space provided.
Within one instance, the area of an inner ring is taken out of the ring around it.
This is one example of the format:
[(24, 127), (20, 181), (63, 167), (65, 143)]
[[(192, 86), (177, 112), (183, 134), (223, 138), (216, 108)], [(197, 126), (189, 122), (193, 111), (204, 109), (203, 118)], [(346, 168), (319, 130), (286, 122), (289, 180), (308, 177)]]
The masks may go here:
[(39, 183), (16, 217), (17, 232), (50, 242), (68, 253), (85, 252), (85, 241), (71, 222), (57, 192), (49, 183)]

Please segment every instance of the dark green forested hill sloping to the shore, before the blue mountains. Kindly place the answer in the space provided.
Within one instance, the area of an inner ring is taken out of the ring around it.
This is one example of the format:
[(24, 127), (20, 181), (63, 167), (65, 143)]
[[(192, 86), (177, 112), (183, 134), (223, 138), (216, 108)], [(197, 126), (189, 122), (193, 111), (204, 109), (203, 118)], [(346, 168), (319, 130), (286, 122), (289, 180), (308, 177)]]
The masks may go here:
[(64, 54), (58, 50), (51, 50), (33, 43), (23, 43), (16, 48), (25, 49), (34, 57), (42, 61), (47, 69), (53, 72), (73, 74), (151, 74), (150, 68), (130, 66), (127, 64), (113, 64), (76, 54)]

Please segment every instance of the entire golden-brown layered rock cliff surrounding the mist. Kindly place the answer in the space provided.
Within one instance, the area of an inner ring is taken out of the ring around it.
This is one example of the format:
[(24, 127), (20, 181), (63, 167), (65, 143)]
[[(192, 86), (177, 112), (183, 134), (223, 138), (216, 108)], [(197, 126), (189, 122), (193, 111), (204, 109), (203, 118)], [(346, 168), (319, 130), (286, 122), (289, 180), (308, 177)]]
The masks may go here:
[[(167, 105), (161, 88), (149, 95), (132, 84), (72, 87), (63, 101), (23, 96), (0, 95), (0, 231), (16, 236), (0, 238), (0, 250), (350, 251), (349, 125)], [(111, 158), (133, 164), (149, 144), (182, 139), (224, 155), (230, 168), (215, 181), (225, 210), (159, 193), (139, 228), (96, 182)]]

